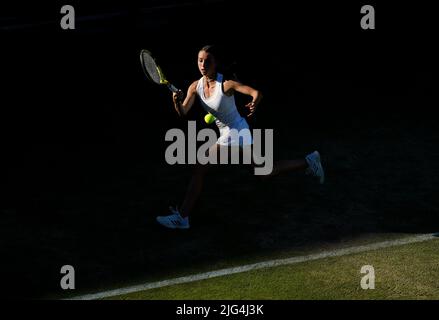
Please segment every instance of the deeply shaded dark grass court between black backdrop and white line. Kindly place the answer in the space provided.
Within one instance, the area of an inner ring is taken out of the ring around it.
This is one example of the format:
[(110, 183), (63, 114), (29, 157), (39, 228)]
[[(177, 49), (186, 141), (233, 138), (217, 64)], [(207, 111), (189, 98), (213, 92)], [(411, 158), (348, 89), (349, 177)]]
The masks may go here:
[[(182, 199), (189, 167), (151, 170), (146, 153), (120, 146), (93, 147), (87, 161), (65, 153), (58, 166), (32, 162), (16, 172), (2, 210), (3, 284), (10, 297), (62, 295), (60, 268), (70, 264), (78, 292), (92, 292), (364, 234), (437, 232), (437, 138), (424, 127), (311, 137), (323, 186), (302, 173), (261, 182), (239, 167), (217, 168), (182, 231), (155, 216)], [(280, 156), (310, 151), (294, 143), (284, 138)]]

